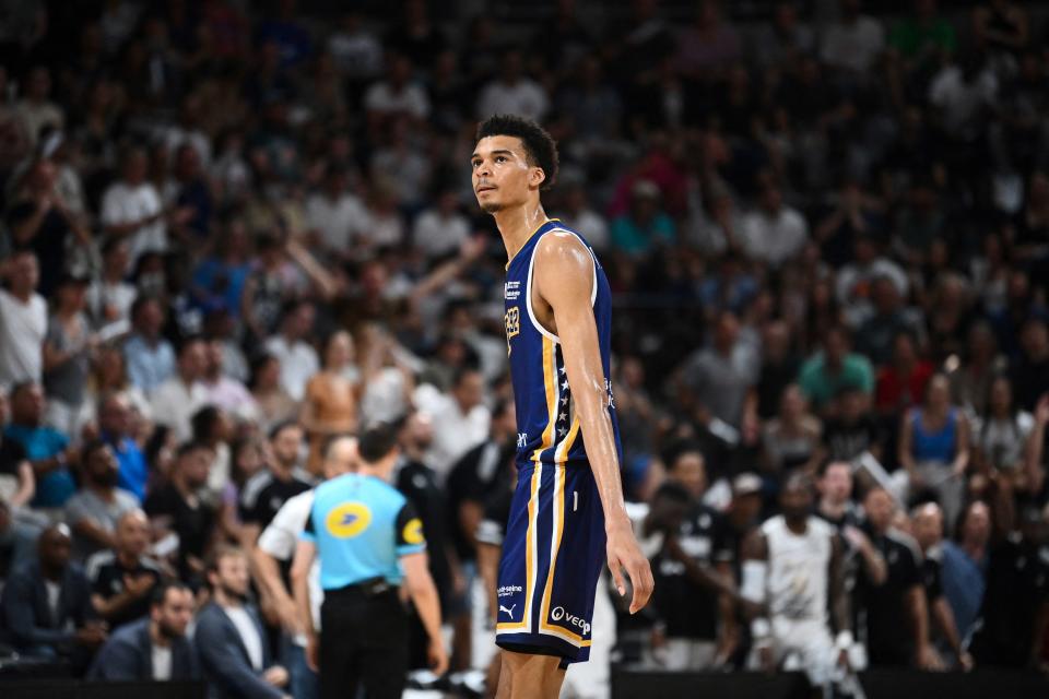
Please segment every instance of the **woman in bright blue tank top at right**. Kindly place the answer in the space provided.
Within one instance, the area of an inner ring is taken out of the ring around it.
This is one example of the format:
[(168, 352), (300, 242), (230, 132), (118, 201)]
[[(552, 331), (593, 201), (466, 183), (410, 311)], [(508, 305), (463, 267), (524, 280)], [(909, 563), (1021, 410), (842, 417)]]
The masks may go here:
[(904, 414), (898, 458), (907, 470), (909, 497), (935, 493), (947, 522), (962, 511), (969, 441), (969, 420), (951, 404), (947, 377), (933, 376), (921, 406)]

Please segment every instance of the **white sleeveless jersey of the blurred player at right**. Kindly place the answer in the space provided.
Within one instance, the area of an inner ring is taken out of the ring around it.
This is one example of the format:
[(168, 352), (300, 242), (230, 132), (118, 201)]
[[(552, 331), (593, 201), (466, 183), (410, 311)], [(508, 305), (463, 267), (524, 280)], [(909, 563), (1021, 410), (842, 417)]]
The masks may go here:
[(826, 616), (830, 565), (830, 526), (810, 518), (804, 534), (794, 534), (781, 517), (763, 528), (768, 544), (768, 592), (774, 615), (791, 619)]

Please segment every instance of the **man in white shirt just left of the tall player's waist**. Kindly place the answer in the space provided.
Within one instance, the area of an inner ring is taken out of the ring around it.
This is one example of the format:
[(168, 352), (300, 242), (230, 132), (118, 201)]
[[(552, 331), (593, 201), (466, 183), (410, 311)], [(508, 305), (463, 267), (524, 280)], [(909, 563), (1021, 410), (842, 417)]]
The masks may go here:
[(434, 424), (434, 441), (424, 461), (441, 482), (460, 457), (488, 437), (492, 413), (481, 402), (483, 398), (484, 379), (479, 370), (469, 368), (456, 374), (448, 393), (428, 383), (415, 390), (415, 406)]

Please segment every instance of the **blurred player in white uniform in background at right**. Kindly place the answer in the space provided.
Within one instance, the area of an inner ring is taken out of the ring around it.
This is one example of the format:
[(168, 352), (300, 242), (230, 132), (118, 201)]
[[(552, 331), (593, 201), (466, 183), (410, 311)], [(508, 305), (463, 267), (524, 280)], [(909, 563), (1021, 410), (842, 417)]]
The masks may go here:
[[(842, 579), (842, 546), (834, 529), (812, 512), (812, 481), (790, 476), (782, 514), (743, 542), (743, 596), (766, 609), (751, 623), (753, 665), (800, 668), (814, 687), (829, 689), (848, 670), (853, 644)], [(832, 639), (828, 595), (837, 638)], [(794, 667), (791, 667), (795, 664)]]

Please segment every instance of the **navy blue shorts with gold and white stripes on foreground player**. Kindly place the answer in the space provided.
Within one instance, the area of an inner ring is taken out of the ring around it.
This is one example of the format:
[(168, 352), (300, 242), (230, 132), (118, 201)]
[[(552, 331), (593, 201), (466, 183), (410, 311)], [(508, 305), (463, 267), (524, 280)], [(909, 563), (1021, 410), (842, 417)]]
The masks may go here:
[(499, 561), (496, 644), (590, 657), (593, 597), (605, 565), (604, 511), (590, 464), (518, 466)]

